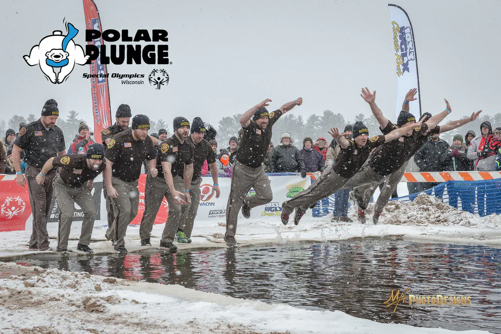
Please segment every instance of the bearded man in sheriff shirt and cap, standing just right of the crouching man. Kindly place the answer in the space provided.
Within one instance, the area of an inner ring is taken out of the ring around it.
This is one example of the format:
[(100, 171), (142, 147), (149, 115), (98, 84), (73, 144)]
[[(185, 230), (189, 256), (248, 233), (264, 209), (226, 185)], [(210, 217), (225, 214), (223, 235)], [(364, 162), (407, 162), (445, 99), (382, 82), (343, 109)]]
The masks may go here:
[(115, 250), (126, 254), (125, 235), (127, 226), (137, 214), (139, 205), (138, 179), (141, 165), (148, 161), (149, 173), (155, 177), (155, 149), (148, 136), (150, 120), (146, 115), (132, 119), (132, 129), (115, 135), (106, 149), (104, 178), (108, 195), (113, 204), (114, 219), (108, 226), (106, 238), (113, 241)]

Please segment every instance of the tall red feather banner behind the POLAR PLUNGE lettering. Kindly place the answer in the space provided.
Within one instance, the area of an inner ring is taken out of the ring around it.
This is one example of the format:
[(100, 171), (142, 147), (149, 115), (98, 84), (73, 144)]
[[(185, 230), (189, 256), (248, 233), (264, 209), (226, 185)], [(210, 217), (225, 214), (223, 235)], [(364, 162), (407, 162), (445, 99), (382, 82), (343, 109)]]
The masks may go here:
[[(85, 13), (85, 29), (103, 32), (99, 11), (93, 0), (83, 0)], [(87, 45), (95, 45), (101, 50), (104, 44), (103, 38), (87, 42)], [(92, 96), (92, 118), (94, 119), (94, 138), (101, 143), (101, 131), (109, 127), (111, 123), (110, 89), (108, 86), (108, 70), (106, 65), (101, 64), (101, 56), (90, 64), (90, 74), (98, 75), (98, 78), (90, 78)]]

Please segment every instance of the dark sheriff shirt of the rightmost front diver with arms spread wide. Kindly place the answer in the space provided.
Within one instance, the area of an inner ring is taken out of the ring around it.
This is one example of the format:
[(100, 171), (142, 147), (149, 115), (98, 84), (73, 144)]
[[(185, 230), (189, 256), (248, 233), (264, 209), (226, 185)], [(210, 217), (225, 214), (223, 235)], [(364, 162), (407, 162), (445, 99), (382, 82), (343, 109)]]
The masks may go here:
[[(381, 132), (386, 135), (395, 129), (398, 127), (388, 122), (388, 125), (381, 129)], [(369, 160), (369, 166), (384, 176), (396, 172), (423, 146), (428, 136), (440, 133), (440, 127), (435, 126), (430, 132), (426, 133), (427, 131), (428, 125), (424, 123), (420, 127), (414, 128), (412, 135), (386, 142), (374, 151)]]

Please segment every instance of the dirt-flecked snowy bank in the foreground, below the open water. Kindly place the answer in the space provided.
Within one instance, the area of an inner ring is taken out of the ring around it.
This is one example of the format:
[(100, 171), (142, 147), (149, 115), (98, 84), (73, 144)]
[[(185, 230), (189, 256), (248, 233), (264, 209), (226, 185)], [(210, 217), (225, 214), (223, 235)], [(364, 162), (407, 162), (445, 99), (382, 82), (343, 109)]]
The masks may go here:
[[(179, 285), (0, 262), (0, 331), (43, 333), (450, 333), (382, 324)], [(481, 333), (469, 330), (463, 333)]]

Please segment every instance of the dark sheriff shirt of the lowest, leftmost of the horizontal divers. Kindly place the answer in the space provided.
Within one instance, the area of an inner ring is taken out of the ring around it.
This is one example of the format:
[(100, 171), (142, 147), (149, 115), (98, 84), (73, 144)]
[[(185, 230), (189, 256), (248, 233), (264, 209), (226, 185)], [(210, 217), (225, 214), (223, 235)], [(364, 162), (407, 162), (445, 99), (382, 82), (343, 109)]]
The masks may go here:
[(365, 146), (358, 147), (355, 142), (348, 139), (347, 148), (339, 151), (332, 169), (336, 174), (346, 179), (355, 175), (365, 163), (373, 149), (385, 143), (384, 136), (374, 136), (367, 140)]

